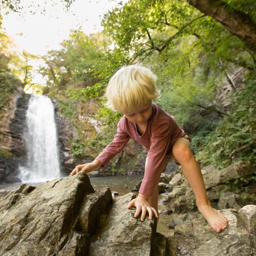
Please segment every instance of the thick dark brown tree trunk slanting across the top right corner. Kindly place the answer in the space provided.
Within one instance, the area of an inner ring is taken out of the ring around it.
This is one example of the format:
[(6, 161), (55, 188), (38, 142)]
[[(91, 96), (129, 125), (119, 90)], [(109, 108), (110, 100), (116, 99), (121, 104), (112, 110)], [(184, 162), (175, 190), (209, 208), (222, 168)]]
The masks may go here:
[(187, 0), (187, 2), (226, 26), (232, 34), (239, 36), (250, 50), (256, 52), (256, 24), (248, 14), (227, 8), (220, 0)]

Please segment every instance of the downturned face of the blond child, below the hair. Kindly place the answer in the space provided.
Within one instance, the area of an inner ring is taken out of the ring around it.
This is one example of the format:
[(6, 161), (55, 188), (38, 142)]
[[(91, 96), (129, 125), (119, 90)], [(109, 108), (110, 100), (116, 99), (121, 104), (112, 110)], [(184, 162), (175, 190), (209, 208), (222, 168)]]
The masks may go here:
[(146, 125), (148, 124), (148, 119), (152, 114), (152, 105), (151, 101), (147, 104), (142, 104), (138, 106), (138, 108), (132, 110), (132, 112), (124, 112), (126, 118), (133, 123), (138, 125)]

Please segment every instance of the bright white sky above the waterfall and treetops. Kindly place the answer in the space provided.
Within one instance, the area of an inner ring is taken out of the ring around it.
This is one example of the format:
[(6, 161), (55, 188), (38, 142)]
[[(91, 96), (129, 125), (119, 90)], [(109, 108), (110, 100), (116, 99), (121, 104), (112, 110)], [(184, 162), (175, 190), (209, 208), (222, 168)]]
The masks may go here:
[[(14, 39), (18, 51), (26, 50), (35, 55), (44, 55), (48, 50), (60, 49), (60, 42), (68, 38), (71, 29), (82, 28), (86, 34), (102, 30), (103, 15), (117, 5), (116, 0), (75, 0), (67, 12), (59, 0), (22, 0), (21, 14), (10, 12), (3, 15), (2, 27)], [(46, 4), (44, 3), (46, 2)], [(125, 1), (123, 1), (125, 2)], [(32, 7), (28, 8), (28, 6)], [(45, 8), (44, 14), (41, 11)], [(36, 12), (35, 14), (31, 14)], [(42, 61), (30, 61), (35, 67)], [(41, 85), (45, 80), (34, 74), (33, 82)]]

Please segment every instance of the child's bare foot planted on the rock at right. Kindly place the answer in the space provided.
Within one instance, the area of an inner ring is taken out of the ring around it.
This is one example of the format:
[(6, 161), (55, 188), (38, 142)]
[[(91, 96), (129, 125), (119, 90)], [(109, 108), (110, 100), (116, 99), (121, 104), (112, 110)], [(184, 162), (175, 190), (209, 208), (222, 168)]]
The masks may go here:
[(227, 219), (223, 214), (212, 208), (210, 201), (208, 204), (198, 206), (198, 210), (201, 212), (201, 214), (204, 216), (214, 231), (220, 232), (227, 227)]

